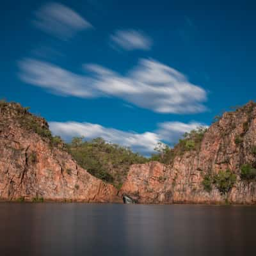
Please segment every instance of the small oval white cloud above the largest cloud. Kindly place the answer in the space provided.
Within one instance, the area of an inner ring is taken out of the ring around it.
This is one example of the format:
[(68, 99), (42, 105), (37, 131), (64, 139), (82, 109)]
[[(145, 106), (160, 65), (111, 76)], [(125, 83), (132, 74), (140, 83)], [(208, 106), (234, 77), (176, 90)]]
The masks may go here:
[(110, 36), (111, 42), (126, 51), (150, 50), (152, 40), (141, 31), (117, 30)]

